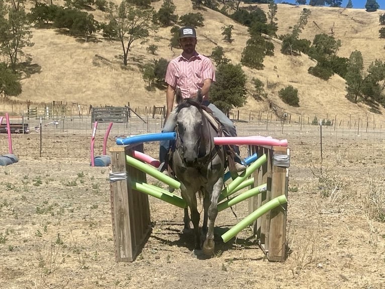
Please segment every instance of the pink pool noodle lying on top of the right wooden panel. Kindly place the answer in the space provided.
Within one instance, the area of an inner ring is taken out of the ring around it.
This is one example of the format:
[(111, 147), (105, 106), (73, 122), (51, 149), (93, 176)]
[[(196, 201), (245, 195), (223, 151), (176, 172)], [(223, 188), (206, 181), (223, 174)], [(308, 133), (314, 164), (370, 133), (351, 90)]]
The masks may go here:
[(252, 146), (279, 146), (287, 147), (287, 139), (275, 139), (264, 136), (224, 136), (214, 137), (215, 144), (250, 144)]

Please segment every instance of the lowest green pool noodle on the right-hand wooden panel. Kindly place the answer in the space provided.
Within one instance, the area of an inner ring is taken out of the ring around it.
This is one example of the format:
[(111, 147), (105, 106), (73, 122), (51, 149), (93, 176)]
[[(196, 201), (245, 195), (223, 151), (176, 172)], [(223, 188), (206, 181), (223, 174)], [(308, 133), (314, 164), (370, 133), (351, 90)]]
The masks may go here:
[(247, 226), (249, 226), (251, 223), (253, 223), (255, 220), (257, 220), (261, 215), (263, 215), (267, 211), (279, 206), (280, 204), (284, 204), (286, 202), (287, 202), (286, 196), (280, 195), (280, 196), (273, 198), (272, 200), (268, 201), (264, 205), (260, 206), (255, 211), (253, 211), (251, 214), (249, 214), (245, 219), (243, 219), (241, 222), (239, 222), (237, 225), (235, 225), (233, 228), (231, 228), (229, 231), (227, 231), (225, 234), (223, 234), (221, 236), (223, 242), (225, 242), (225, 243), (229, 242), (239, 232), (241, 232), (243, 229), (245, 229)]

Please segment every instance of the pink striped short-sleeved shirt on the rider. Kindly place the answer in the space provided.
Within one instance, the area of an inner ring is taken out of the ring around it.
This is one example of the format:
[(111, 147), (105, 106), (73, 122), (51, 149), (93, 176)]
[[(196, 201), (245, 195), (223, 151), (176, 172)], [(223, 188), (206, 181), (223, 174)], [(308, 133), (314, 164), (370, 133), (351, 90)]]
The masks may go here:
[(206, 79), (215, 82), (215, 68), (208, 57), (198, 52), (190, 59), (179, 55), (168, 63), (165, 81), (173, 88), (179, 88), (182, 98), (196, 94)]

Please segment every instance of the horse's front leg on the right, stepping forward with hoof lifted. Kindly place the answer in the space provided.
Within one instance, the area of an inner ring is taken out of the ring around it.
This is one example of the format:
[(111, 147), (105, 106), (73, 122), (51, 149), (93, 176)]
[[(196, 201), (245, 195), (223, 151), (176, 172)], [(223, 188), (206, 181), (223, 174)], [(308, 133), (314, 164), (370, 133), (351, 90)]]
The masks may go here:
[(218, 214), (218, 198), (221, 194), (222, 187), (223, 178), (219, 178), (214, 185), (213, 192), (211, 194), (211, 203), (208, 209), (208, 230), (206, 234), (206, 240), (203, 243), (203, 253), (207, 256), (211, 256), (214, 253), (214, 225)]

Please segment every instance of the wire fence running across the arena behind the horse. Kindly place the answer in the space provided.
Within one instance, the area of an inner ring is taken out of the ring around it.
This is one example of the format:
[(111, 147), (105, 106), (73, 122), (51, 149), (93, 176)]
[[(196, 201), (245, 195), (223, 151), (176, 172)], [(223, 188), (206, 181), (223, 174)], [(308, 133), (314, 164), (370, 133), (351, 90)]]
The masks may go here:
[[(302, 118), (305, 119), (305, 118)], [(90, 143), (94, 123), (90, 116), (72, 116), (62, 119), (29, 119), (22, 117), (11, 118), (10, 123), (25, 121), (29, 125), (30, 133), (12, 134), (12, 147), (14, 154), (19, 157), (48, 158), (89, 158)], [(320, 126), (319, 123), (308, 121), (284, 122), (275, 117), (260, 118), (260, 120), (234, 121), (239, 136), (262, 135), (277, 139), (287, 138), (289, 146), (291, 141), (307, 142), (310, 138), (338, 143), (341, 141), (364, 141), (368, 145), (381, 146), (385, 140), (385, 127), (382, 123), (353, 122), (327, 122)], [(4, 125), (5, 121), (3, 121)], [(106, 135), (110, 125), (108, 122), (99, 122), (95, 131), (94, 152), (95, 156), (102, 155), (104, 150), (114, 146), (117, 137), (161, 132), (163, 116), (152, 118), (131, 115), (127, 123), (113, 123), (111, 131)], [(0, 133), (0, 155), (8, 153), (8, 138), (6, 133)], [(26, 148), (28, 147), (28, 149)], [(157, 156), (153, 156), (157, 157)]]

